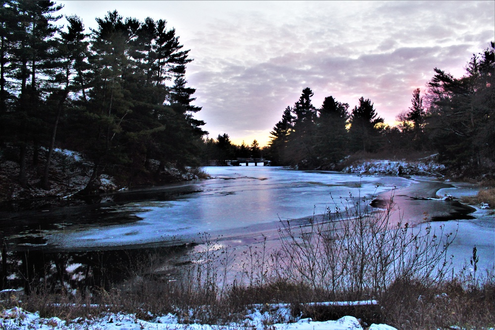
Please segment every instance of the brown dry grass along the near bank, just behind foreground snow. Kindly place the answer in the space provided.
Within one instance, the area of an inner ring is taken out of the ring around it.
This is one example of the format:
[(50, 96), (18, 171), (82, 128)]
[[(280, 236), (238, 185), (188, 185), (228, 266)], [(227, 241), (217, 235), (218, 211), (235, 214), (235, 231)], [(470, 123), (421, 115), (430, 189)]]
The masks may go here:
[[(263, 292), (263, 293), (261, 293)], [(495, 278), (484, 277), (476, 285), (472, 278), (457, 276), (434, 286), (420, 282), (396, 281), (391, 284), (379, 305), (326, 307), (311, 306), (308, 296), (320, 296), (304, 284), (279, 281), (262, 287), (230, 288), (214, 299), (205, 301), (205, 291), (189, 291), (184, 283), (164, 283), (147, 280), (127, 289), (114, 288), (86, 295), (36, 294), (3, 302), (3, 308), (20, 306), (40, 311), (41, 317), (56, 316), (64, 321), (83, 317), (96, 320), (102, 313), (124, 312), (141, 320), (173, 313), (181, 322), (203, 324), (242, 323), (247, 308), (253, 303), (290, 303), (294, 317), (311, 317), (315, 321), (337, 320), (352, 315), (367, 324), (386, 323), (397, 329), (488, 329), (495, 326)], [(342, 292), (346, 294), (346, 292)], [(327, 293), (328, 296), (328, 293)], [(267, 308), (267, 304), (262, 304)], [(267, 324), (280, 322), (274, 314)]]

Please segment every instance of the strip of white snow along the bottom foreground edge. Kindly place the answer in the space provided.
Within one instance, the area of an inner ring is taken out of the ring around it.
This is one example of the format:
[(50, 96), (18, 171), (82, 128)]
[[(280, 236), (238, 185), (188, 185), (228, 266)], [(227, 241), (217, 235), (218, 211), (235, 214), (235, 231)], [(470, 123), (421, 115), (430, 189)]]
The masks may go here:
[[(280, 311), (287, 313), (288, 311)], [(269, 316), (258, 310), (251, 311), (242, 324), (230, 326), (180, 324), (178, 319), (168, 314), (151, 321), (140, 320), (133, 314), (106, 314), (96, 318), (77, 318), (71, 322), (59, 318), (40, 318), (38, 313), (26, 312), (20, 308), (3, 310), (0, 314), (0, 328), (8, 330), (217, 330), (217, 329), (251, 329), (251, 330), (396, 330), (387, 325), (373, 324), (363, 328), (356, 318), (345, 316), (337, 321), (313, 322), (311, 319), (299, 319), (294, 323), (267, 323)]]

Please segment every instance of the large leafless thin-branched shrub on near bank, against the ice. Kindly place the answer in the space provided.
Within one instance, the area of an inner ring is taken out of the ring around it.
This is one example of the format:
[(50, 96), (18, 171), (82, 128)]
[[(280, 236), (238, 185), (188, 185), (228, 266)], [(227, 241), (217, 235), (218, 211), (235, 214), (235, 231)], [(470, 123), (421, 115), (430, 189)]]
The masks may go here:
[(281, 230), (285, 276), (323, 289), (329, 299), (345, 292), (347, 299), (383, 299), (397, 280), (438, 283), (450, 267), (447, 248), (455, 233), (422, 230), (407, 223), (392, 224), (388, 207), (373, 210), (370, 200), (344, 199), (323, 221), (313, 217), (296, 230), (284, 223)]

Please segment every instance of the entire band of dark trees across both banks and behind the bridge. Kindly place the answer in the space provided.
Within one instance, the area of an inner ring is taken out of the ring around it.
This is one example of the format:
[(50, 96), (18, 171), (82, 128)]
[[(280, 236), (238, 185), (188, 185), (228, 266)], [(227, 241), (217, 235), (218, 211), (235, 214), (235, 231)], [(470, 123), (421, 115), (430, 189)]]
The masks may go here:
[(426, 94), (413, 91), (394, 127), (369, 98), (349, 109), (328, 96), (316, 108), (305, 88), (260, 148), (257, 141), (235, 145), (227, 134), (204, 138), (204, 122), (193, 117), (201, 109), (192, 104), (196, 90), (186, 80), (192, 59), (165, 20), (111, 11), (87, 34), (75, 15), (57, 25), (60, 9), (49, 0), (4, 0), (0, 8), (0, 162), (18, 162), (22, 187), (34, 165), (40, 186), (50, 189), (56, 147), (91, 162), (83, 194), (103, 173), (153, 181), (170, 164), (248, 157), (338, 169), (356, 153), (432, 151), (459, 172), (494, 172), (494, 43), (473, 55), (461, 78), (435, 68)]

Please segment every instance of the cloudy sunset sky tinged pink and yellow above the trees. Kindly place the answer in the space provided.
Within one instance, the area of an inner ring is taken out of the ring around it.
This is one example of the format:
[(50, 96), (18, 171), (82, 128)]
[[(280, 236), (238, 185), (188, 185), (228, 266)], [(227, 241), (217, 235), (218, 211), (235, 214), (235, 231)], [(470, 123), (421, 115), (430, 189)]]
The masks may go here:
[(186, 79), (202, 107), (195, 117), (210, 138), (227, 133), (236, 144), (266, 145), (306, 87), (317, 108), (333, 96), (350, 110), (363, 96), (394, 125), (435, 67), (460, 78), (495, 40), (494, 0), (55, 2), (86, 28), (114, 9), (167, 20), (194, 59)]

